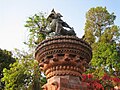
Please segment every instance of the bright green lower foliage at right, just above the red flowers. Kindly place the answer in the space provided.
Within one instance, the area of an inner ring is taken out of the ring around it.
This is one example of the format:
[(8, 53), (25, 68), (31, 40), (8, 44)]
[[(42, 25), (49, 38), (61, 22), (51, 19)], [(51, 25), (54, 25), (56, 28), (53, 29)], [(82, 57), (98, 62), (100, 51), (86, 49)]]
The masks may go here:
[(116, 44), (101, 42), (95, 46), (91, 61), (91, 65), (96, 68), (94, 73), (100, 74), (99, 76), (102, 75), (102, 72), (114, 75), (115, 71), (120, 71), (120, 57), (116, 50)]

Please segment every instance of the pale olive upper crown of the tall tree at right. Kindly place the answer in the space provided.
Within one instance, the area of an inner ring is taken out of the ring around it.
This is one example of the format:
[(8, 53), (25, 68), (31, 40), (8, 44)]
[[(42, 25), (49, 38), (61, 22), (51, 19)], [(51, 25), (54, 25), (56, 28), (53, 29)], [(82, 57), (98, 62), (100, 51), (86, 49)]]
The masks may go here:
[[(112, 32), (110, 36), (107, 37), (109, 37), (109, 39), (112, 39), (112, 37), (116, 36), (116, 33), (118, 32), (117, 26), (114, 26), (115, 18), (116, 16), (114, 15), (114, 13), (110, 14), (107, 11), (106, 7), (91, 8), (86, 13), (84, 40), (92, 44), (94, 42), (100, 41), (101, 37), (103, 37), (102, 35), (104, 35), (105, 32), (111, 32), (111, 31)], [(112, 30), (113, 28), (114, 30)]]

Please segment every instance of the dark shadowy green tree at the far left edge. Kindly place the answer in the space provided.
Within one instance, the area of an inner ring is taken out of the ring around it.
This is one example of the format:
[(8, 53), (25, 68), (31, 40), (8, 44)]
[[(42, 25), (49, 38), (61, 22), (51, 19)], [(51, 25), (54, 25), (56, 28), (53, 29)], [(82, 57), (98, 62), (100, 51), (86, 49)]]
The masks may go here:
[(10, 69), (9, 65), (13, 62), (15, 62), (15, 58), (12, 57), (12, 53), (10, 51), (0, 49), (0, 89), (4, 88), (4, 82), (1, 82), (3, 69)]

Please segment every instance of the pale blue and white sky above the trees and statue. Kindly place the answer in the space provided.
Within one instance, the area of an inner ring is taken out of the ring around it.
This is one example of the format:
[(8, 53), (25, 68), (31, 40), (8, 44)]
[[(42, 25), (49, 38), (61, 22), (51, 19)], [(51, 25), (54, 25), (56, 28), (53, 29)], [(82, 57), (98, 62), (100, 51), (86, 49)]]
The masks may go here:
[(84, 34), (85, 14), (97, 6), (114, 12), (117, 16), (115, 24), (120, 26), (120, 0), (0, 0), (0, 48), (9, 51), (14, 48), (26, 49), (23, 44), (28, 39), (25, 21), (39, 12), (49, 14), (53, 8), (63, 15), (62, 19), (81, 38)]

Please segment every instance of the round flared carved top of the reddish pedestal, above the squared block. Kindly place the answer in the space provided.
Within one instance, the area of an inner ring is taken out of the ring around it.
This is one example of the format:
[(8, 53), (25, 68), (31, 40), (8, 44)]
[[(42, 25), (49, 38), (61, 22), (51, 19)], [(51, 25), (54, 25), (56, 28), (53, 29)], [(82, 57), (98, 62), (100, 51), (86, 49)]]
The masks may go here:
[(35, 52), (47, 79), (65, 75), (81, 77), (91, 58), (90, 45), (76, 36), (51, 37), (41, 42)]

